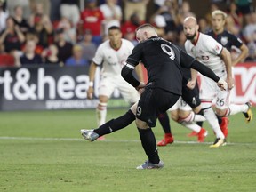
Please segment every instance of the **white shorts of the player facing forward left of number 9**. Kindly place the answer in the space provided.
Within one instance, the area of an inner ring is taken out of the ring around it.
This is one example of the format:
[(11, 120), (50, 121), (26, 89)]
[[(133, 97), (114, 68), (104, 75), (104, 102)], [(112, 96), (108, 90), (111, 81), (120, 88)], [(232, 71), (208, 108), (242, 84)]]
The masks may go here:
[(99, 85), (99, 95), (111, 97), (112, 93), (117, 89), (124, 100), (135, 103), (140, 99), (140, 93), (127, 83), (124, 78), (120, 76), (101, 76)]

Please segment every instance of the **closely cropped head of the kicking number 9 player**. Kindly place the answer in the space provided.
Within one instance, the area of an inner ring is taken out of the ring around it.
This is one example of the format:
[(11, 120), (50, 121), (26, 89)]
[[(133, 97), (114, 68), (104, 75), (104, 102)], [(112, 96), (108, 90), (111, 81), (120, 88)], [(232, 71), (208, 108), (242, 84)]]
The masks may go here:
[(136, 29), (136, 38), (139, 42), (145, 41), (151, 36), (157, 36), (156, 29), (150, 24), (141, 25)]

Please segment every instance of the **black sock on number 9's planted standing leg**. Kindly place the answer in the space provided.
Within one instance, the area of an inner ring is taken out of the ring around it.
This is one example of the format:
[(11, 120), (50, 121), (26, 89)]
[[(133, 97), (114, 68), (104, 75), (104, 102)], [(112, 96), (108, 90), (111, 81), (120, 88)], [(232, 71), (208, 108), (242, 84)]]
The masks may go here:
[(141, 140), (142, 147), (144, 148), (144, 151), (148, 156), (148, 160), (152, 164), (158, 164), (160, 159), (159, 159), (158, 151), (156, 148), (156, 138), (154, 133), (152, 132), (152, 129), (138, 128), (138, 131), (140, 133), (140, 140)]

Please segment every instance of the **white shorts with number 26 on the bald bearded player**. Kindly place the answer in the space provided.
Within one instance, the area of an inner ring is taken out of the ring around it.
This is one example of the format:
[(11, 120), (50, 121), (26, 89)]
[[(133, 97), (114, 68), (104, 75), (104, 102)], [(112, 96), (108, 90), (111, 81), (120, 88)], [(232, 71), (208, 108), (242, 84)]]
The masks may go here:
[[(220, 76), (222, 79), (226, 79), (226, 74)], [(221, 91), (218, 85), (212, 81), (212, 79), (201, 76), (201, 87), (200, 87), (200, 99), (202, 102), (214, 100), (216, 108), (226, 109), (229, 106), (229, 95), (228, 90)]]

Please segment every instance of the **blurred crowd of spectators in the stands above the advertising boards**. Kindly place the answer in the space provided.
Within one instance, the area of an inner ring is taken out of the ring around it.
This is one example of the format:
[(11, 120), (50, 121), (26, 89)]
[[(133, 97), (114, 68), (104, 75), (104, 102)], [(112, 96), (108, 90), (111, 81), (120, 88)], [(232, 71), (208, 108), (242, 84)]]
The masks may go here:
[[(0, 66), (49, 64), (90, 65), (108, 28), (119, 26), (123, 37), (137, 44), (135, 28), (149, 22), (159, 36), (183, 47), (182, 22), (195, 16), (191, 1), (180, 0), (0, 0)], [(200, 31), (211, 30), (211, 12), (228, 14), (226, 28), (249, 48), (244, 61), (256, 61), (256, 12), (250, 0), (211, 1), (198, 19)], [(147, 5), (154, 4), (147, 17)], [(223, 9), (224, 7), (224, 9)], [(239, 52), (232, 50), (232, 57)]]

